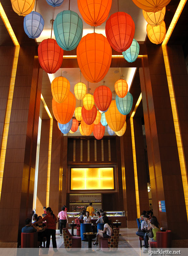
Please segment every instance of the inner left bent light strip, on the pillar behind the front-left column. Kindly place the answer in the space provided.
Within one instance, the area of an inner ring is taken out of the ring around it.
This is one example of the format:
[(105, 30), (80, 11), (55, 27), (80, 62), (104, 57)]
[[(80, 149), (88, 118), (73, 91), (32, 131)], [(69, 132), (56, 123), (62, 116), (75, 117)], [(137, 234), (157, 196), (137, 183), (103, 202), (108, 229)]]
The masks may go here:
[(44, 108), (46, 109), (46, 112), (50, 118), (50, 132), (49, 132), (49, 146), (48, 146), (48, 170), (47, 170), (47, 183), (46, 183), (46, 206), (49, 206), (53, 118), (52, 118), (50, 110), (48, 109), (46, 102), (42, 96), (42, 93), (41, 93), (41, 100), (42, 100)]

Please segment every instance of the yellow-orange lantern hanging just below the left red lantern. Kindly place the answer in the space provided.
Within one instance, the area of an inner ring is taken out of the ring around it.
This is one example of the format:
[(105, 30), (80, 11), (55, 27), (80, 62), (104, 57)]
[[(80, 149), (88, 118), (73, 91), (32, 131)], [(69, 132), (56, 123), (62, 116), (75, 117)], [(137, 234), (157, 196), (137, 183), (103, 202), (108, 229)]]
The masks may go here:
[(54, 100), (62, 103), (68, 96), (70, 91), (70, 83), (63, 76), (55, 77), (51, 83), (51, 91)]

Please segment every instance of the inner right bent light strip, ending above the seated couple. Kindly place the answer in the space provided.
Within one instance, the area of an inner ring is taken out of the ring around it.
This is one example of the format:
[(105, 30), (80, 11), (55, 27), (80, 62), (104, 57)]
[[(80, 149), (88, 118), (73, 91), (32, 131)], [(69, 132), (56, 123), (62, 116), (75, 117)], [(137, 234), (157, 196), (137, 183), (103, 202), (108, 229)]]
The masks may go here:
[(133, 113), (130, 118), (131, 122), (131, 138), (132, 138), (132, 149), (133, 149), (133, 166), (134, 166), (134, 176), (135, 176), (135, 193), (136, 193), (136, 208), (137, 208), (137, 218), (140, 218), (140, 200), (139, 200), (139, 190), (138, 190), (138, 175), (137, 175), (137, 165), (136, 165), (136, 150), (135, 150), (135, 135), (134, 135), (134, 124), (133, 124), (133, 117), (137, 110), (137, 107), (140, 104), (142, 99), (142, 93), (140, 94)]

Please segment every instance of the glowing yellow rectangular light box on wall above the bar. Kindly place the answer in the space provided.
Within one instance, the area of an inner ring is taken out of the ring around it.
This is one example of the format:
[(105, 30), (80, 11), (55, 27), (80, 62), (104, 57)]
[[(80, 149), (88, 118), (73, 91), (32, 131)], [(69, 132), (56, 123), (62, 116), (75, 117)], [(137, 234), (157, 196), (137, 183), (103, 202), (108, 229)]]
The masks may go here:
[(114, 189), (113, 168), (71, 168), (71, 190)]

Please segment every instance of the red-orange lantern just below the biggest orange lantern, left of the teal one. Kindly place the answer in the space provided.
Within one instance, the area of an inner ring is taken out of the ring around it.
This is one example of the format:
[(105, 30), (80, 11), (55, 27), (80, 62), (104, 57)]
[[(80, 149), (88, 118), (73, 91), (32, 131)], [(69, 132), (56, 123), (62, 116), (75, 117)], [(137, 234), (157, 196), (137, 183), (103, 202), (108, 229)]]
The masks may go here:
[(99, 110), (105, 111), (108, 109), (112, 99), (112, 93), (109, 87), (105, 85), (97, 87), (93, 96), (95, 104)]

